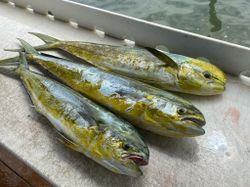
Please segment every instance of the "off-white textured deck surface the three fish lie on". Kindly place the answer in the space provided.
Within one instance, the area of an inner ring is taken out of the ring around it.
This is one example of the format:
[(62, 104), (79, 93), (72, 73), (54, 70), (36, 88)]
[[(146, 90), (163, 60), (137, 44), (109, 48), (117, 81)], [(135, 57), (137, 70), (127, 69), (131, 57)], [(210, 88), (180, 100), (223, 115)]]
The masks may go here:
[[(68, 40), (124, 45), (70, 24), (0, 3), (0, 56), (15, 55), (15, 38), (41, 42), (29, 31)], [(129, 178), (113, 174), (56, 139), (49, 122), (32, 108), (19, 80), (0, 75), (0, 143), (35, 170), (60, 186), (247, 186), (250, 184), (250, 89), (229, 76), (221, 96), (182, 95), (206, 116), (206, 134), (197, 138), (170, 139), (140, 130), (151, 150), (144, 175)]]

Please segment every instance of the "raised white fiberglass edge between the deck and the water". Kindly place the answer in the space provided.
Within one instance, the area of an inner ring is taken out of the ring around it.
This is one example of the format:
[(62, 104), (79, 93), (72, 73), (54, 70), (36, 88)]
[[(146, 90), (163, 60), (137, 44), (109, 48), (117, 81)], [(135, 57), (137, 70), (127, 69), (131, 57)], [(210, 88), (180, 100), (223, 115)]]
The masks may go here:
[[(7, 0), (0, 0), (9, 2)], [(205, 57), (225, 72), (238, 75), (250, 70), (250, 48), (202, 35), (147, 22), (68, 0), (11, 0), (16, 6), (32, 8), (40, 14), (54, 15), (66, 22), (74, 21), (106, 35), (135, 41), (137, 45), (166, 46), (171, 52), (191, 57)]]

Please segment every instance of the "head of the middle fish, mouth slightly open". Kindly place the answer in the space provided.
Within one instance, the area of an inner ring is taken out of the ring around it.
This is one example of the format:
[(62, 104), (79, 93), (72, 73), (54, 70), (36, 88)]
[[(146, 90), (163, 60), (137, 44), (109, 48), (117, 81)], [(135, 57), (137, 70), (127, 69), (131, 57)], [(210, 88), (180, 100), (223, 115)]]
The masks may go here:
[[(190, 102), (172, 94), (171, 99), (157, 99), (145, 113), (148, 130), (168, 137), (194, 137), (205, 134), (203, 114)], [(154, 125), (152, 125), (154, 124)]]

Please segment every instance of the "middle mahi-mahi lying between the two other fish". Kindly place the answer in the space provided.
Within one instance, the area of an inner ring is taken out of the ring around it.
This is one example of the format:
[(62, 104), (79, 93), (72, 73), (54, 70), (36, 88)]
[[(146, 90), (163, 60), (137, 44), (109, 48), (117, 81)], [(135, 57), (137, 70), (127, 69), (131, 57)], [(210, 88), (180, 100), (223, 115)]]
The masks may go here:
[[(169, 137), (192, 137), (205, 133), (202, 128), (204, 116), (181, 97), (88, 64), (38, 53), (27, 42), (20, 41), (28, 61), (39, 64), (63, 83), (139, 128)], [(1, 63), (12, 60), (2, 60)]]

